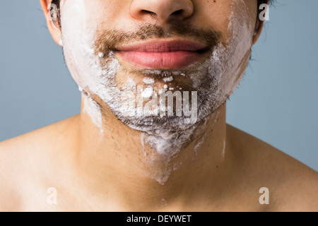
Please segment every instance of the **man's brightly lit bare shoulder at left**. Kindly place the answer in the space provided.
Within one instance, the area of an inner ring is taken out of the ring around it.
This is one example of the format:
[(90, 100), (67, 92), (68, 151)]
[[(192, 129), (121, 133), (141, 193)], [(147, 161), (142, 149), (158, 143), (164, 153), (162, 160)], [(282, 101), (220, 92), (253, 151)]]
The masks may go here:
[(24, 210), (25, 197), (38, 197), (45, 175), (76, 117), (0, 142), (0, 211)]

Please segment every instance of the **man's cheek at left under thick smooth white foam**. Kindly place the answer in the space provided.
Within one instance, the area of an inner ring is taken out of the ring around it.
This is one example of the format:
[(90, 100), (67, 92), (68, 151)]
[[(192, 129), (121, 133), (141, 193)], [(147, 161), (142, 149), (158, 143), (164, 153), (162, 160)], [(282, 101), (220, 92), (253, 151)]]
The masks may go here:
[(96, 29), (86, 8), (84, 0), (67, 0), (61, 7), (65, 60), (73, 79), (81, 87), (95, 83), (91, 65), (95, 61), (93, 44)]

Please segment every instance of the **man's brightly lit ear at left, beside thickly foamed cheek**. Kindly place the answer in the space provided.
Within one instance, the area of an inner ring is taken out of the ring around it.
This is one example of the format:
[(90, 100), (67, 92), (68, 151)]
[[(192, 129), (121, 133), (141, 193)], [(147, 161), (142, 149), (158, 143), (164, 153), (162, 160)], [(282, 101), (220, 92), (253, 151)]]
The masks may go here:
[[(57, 42), (60, 46), (61, 43), (61, 29), (59, 27), (59, 11), (57, 7), (51, 6), (52, 0), (40, 0), (43, 12), (45, 13), (45, 19), (47, 20), (47, 28), (52, 35), (54, 42)], [(55, 22), (53, 21), (55, 20)]]

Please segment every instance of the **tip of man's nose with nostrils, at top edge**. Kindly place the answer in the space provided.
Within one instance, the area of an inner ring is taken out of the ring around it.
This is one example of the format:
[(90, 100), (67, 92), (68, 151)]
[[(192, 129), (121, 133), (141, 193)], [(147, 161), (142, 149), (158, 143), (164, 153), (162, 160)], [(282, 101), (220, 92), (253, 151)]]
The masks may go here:
[(159, 23), (167, 23), (171, 19), (185, 20), (193, 12), (191, 0), (134, 0), (130, 10), (136, 20), (157, 20)]

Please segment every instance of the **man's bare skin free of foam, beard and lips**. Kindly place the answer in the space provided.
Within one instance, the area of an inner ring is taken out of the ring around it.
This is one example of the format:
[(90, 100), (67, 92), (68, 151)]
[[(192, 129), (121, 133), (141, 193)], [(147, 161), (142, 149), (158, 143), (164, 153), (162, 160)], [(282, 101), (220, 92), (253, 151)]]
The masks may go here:
[[(50, 1), (40, 2), (47, 14)], [(128, 22), (133, 20), (165, 26), (172, 13), (182, 8), (178, 20), (217, 28), (227, 37), (226, 15), (232, 1), (90, 2), (92, 11), (98, 4), (105, 6), (105, 12), (96, 11), (96, 16), (111, 21), (110, 26), (116, 21), (117, 26), (129, 30)], [(256, 1), (245, 0), (245, 4), (257, 31), (250, 34), (252, 47), (262, 24), (257, 23)], [(155, 12), (156, 17), (142, 10)], [(50, 20), (47, 23), (59, 43), (61, 31)], [(248, 60), (249, 54), (242, 58), (241, 70)], [(121, 78), (120, 73), (118, 76)], [(226, 124), (225, 108), (223, 104), (211, 114), (194, 141), (173, 158), (171, 164), (179, 167), (161, 185), (145, 172), (162, 170), (166, 162), (144, 164), (140, 131), (117, 120), (105, 105), (101, 136), (82, 103), (81, 114), (0, 143), (0, 210), (317, 211), (317, 172)], [(194, 152), (204, 134), (204, 142)], [(150, 151), (150, 147), (146, 149)], [(269, 188), (269, 205), (259, 203), (259, 189), (264, 186)], [(57, 189), (57, 205), (47, 204), (50, 187)]]

